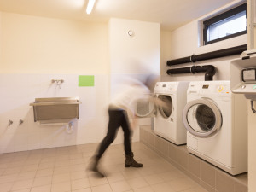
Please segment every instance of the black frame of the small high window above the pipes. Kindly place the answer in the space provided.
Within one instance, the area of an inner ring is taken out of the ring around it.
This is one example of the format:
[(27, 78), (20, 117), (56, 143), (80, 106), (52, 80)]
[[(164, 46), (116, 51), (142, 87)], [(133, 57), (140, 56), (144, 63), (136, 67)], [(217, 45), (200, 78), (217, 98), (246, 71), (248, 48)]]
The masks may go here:
[(247, 3), (243, 3), (243, 4), (239, 5), (238, 7), (234, 8), (234, 9), (230, 9), (230, 10), (224, 12), (223, 14), (214, 16), (211, 19), (203, 21), (203, 45), (213, 44), (213, 43), (216, 43), (216, 42), (219, 42), (219, 41), (223, 41), (224, 39), (235, 38), (237, 36), (247, 34), (247, 26), (246, 26), (246, 30), (244, 30), (242, 32), (236, 32), (234, 34), (225, 36), (223, 38), (217, 38), (217, 39), (214, 39), (212, 41), (208, 41), (208, 39), (207, 39), (207, 29), (208, 29), (209, 26), (211, 26), (214, 23), (217, 23), (218, 21), (227, 19), (232, 15), (239, 14), (242, 11), (246, 11), (246, 18), (247, 18)]

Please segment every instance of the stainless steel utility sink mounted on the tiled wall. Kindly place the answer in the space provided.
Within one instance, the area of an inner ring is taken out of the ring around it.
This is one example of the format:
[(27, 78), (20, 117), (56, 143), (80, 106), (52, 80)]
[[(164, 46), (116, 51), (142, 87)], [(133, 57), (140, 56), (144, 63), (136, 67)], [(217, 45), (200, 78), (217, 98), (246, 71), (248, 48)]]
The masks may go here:
[(34, 121), (79, 119), (79, 97), (36, 98), (30, 103)]

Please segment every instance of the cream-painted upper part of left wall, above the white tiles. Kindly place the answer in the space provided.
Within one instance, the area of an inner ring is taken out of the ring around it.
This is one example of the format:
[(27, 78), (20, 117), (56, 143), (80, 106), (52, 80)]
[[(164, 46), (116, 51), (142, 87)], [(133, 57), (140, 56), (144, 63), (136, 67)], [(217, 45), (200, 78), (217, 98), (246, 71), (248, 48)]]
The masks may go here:
[(108, 74), (108, 24), (2, 13), (1, 73)]

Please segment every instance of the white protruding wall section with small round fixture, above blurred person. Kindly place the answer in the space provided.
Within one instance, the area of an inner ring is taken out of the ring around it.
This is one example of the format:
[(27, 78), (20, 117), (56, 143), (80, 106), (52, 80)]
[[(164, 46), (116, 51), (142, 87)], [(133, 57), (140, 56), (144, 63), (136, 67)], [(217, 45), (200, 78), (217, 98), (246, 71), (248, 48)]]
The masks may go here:
[[(133, 36), (128, 31), (134, 32)], [(112, 18), (109, 21), (111, 90), (127, 76), (160, 75), (160, 24)]]

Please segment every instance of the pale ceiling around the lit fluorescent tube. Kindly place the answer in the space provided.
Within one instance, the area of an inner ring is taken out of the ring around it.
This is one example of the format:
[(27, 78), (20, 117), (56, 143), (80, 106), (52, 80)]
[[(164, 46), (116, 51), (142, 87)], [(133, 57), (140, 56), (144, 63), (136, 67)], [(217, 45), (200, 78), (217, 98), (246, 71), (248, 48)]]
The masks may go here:
[(183, 26), (233, 0), (96, 0), (86, 15), (88, 0), (0, 0), (0, 11), (68, 20), (106, 22), (109, 18), (159, 22), (162, 29)]

